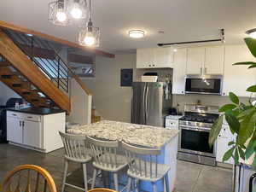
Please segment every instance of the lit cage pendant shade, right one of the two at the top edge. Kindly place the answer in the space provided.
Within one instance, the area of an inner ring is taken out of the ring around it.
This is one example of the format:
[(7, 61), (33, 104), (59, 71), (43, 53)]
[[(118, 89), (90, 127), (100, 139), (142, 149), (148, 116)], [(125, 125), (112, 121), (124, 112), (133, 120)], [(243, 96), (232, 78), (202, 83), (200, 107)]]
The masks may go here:
[(75, 20), (85, 19), (87, 17), (86, 0), (69, 0), (68, 12)]

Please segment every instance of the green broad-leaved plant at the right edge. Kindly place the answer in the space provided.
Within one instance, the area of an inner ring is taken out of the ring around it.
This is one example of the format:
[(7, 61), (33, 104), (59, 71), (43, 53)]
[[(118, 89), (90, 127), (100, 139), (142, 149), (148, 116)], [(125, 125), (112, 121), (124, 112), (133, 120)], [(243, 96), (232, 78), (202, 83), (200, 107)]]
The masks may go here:
[[(256, 57), (256, 39), (245, 38), (244, 40), (248, 49)], [(247, 65), (248, 69), (251, 69), (256, 67), (256, 62), (245, 61), (233, 65)], [(247, 91), (252, 94), (256, 93), (256, 84), (248, 87)], [(236, 136), (236, 141), (229, 143), (230, 149), (224, 154), (223, 161), (233, 158), (238, 164), (239, 158), (242, 160), (253, 158), (252, 166), (256, 167), (256, 102), (252, 102), (252, 98), (250, 98), (248, 103), (242, 103), (238, 96), (232, 92), (229, 96), (231, 103), (219, 108), (221, 114), (212, 125), (209, 144), (212, 146), (218, 137), (225, 118), (230, 126), (230, 131)]]

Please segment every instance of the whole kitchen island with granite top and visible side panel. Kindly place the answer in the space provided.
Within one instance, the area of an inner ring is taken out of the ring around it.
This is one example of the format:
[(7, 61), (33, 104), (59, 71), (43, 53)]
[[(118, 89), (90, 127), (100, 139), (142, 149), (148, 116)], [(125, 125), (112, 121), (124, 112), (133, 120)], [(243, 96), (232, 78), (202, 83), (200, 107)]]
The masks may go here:
[[(82, 125), (67, 130), (68, 133), (81, 134), (119, 142), (131, 143), (146, 148), (160, 148), (159, 163), (171, 166), (169, 172), (170, 191), (174, 190), (177, 174), (177, 130), (137, 125), (118, 121), (102, 120), (95, 124)], [(148, 190), (150, 183), (142, 183), (143, 190)], [(159, 184), (161, 188), (161, 185)], [(160, 189), (159, 189), (160, 190)]]

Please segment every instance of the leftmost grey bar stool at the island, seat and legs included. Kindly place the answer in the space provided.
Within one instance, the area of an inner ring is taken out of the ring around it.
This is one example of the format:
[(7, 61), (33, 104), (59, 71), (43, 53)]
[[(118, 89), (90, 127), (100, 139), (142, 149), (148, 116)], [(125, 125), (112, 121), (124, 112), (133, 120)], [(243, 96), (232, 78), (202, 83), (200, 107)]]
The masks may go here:
[[(70, 187), (80, 189), (80, 190), (88, 190), (88, 180), (87, 180), (87, 169), (86, 164), (92, 159), (90, 156), (90, 148), (86, 144), (86, 136), (81, 135), (72, 135), (59, 131), (62, 139), (62, 143), (65, 148), (65, 168), (64, 168), (64, 176), (62, 182), (61, 192), (64, 192), (65, 186), (68, 185)], [(73, 185), (71, 183), (66, 183), (67, 180), (67, 169), (68, 162), (73, 161), (76, 163), (81, 163), (83, 167), (84, 173), (84, 189), (79, 186)]]

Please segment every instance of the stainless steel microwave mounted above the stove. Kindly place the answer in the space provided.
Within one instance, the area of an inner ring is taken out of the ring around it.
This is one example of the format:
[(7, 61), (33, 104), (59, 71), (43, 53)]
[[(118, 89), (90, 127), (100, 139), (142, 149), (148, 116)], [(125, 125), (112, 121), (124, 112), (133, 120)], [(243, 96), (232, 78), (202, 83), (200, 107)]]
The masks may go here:
[(185, 93), (222, 95), (222, 75), (187, 75)]

